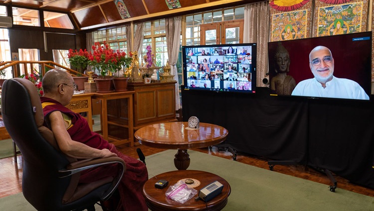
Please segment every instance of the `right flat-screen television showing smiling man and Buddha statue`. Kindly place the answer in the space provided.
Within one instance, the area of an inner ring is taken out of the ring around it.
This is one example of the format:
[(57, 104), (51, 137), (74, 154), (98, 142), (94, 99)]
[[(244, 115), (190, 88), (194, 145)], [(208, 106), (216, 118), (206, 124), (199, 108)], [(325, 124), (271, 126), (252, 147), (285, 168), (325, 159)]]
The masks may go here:
[(372, 32), (268, 43), (270, 93), (370, 100)]

